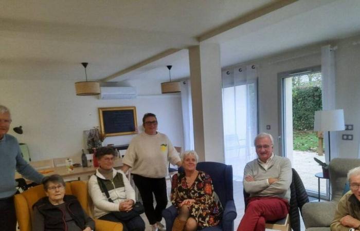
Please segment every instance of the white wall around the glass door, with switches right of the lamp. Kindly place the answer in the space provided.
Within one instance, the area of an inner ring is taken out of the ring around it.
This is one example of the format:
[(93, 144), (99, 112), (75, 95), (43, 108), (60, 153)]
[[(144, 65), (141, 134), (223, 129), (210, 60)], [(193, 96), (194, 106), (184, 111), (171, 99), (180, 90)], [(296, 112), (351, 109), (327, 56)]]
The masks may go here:
[[(353, 45), (357, 42), (357, 45)], [(259, 130), (271, 133), (275, 139), (275, 152), (279, 152), (279, 72), (321, 65), (321, 46), (304, 47), (279, 55), (253, 61), (259, 65)], [(339, 157), (357, 158), (360, 139), (360, 36), (330, 43), (337, 46), (336, 108), (343, 108), (345, 124), (353, 124), (353, 131), (339, 131)], [(271, 125), (271, 130), (266, 130)], [(341, 140), (341, 134), (353, 134), (353, 141)]]

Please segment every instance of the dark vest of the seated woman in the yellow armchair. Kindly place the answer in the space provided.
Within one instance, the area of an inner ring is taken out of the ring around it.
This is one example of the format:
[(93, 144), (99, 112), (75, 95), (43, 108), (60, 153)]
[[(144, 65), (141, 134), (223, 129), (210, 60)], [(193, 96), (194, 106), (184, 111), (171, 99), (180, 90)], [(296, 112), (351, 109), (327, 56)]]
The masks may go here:
[[(81, 228), (85, 228), (85, 216), (78, 199), (73, 195), (65, 195), (64, 202), (66, 209), (71, 218)], [(64, 231), (66, 229), (66, 221), (63, 219), (65, 211), (52, 205), (49, 202), (48, 197), (43, 197), (37, 203), (33, 205), (33, 208), (37, 207), (39, 212), (44, 216), (45, 231)]]

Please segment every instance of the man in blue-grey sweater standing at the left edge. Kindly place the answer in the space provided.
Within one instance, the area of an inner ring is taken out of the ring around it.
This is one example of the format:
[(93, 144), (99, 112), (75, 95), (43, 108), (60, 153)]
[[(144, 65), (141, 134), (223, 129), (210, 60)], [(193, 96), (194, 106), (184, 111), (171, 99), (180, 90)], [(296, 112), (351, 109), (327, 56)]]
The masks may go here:
[(7, 134), (11, 123), (10, 111), (0, 105), (0, 230), (14, 231), (16, 215), (14, 194), (16, 192), (15, 169), (24, 177), (41, 183), (39, 174), (23, 159), (19, 143)]

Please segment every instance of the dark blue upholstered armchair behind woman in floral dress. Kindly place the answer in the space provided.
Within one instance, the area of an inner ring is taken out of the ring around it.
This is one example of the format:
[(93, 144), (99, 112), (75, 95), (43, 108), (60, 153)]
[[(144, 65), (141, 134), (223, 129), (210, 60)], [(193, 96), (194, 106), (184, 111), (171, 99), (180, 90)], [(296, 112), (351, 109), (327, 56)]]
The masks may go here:
[[(233, 200), (232, 190), (232, 166), (217, 162), (199, 162), (196, 166), (197, 170), (201, 170), (210, 175), (214, 191), (220, 198), (224, 208), (223, 218), (219, 225), (204, 228), (204, 231), (233, 231), (234, 220), (237, 216), (235, 203)], [(179, 168), (182, 171), (182, 168)], [(166, 221), (166, 230), (172, 229), (172, 224), (177, 216), (175, 206), (170, 206), (163, 210), (163, 217)]]

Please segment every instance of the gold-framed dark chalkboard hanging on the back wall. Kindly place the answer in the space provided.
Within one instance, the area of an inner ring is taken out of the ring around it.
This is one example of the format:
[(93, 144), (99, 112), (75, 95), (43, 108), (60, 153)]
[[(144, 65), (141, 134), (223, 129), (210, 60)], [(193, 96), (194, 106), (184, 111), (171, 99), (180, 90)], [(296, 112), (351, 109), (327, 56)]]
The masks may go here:
[(135, 134), (135, 107), (99, 107), (100, 132), (105, 137)]

